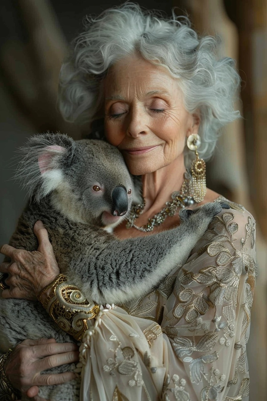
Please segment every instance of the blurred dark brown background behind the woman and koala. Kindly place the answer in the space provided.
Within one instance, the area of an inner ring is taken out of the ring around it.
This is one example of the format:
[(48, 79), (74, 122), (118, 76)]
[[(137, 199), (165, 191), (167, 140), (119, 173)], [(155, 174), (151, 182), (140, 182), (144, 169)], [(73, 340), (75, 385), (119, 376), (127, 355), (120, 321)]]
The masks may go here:
[[(64, 122), (56, 110), (60, 65), (86, 14), (121, 1), (1, 0), (0, 15), (0, 244), (8, 242), (26, 202), (12, 180), (15, 150), (48, 130), (73, 138), (87, 127)], [(242, 79), (237, 107), (243, 119), (225, 128), (207, 164), (208, 186), (245, 206), (257, 221), (259, 275), (248, 358), (251, 401), (267, 399), (267, 1), (140, 0), (146, 8), (188, 15), (200, 34), (217, 34), (220, 53), (237, 61)]]

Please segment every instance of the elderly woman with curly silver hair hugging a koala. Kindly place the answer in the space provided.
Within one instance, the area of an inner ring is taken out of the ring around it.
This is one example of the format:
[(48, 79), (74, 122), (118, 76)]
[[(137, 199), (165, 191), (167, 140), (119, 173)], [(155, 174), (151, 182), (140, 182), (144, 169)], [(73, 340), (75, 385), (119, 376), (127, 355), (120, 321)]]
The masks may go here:
[[(81, 400), (248, 400), (255, 223), (243, 207), (206, 188), (201, 159), (211, 156), (219, 129), (239, 117), (233, 109), (239, 75), (232, 59), (217, 61), (215, 49), (215, 40), (198, 38), (187, 19), (164, 19), (126, 3), (88, 18), (62, 67), (64, 117), (104, 117), (105, 139), (122, 152), (130, 172), (142, 176), (145, 202), (114, 235), (175, 227), (182, 207), (225, 201), (230, 208), (156, 289), (87, 323), (94, 327), (80, 348)], [(57, 286), (59, 269), (42, 223), (34, 232), (38, 251), (2, 247), (13, 262), (0, 268), (9, 273), (5, 298), (42, 290), (45, 303)], [(37, 400), (38, 385), (74, 378), (41, 372), (77, 360), (74, 344), (29, 339), (3, 356), (2, 385)]]

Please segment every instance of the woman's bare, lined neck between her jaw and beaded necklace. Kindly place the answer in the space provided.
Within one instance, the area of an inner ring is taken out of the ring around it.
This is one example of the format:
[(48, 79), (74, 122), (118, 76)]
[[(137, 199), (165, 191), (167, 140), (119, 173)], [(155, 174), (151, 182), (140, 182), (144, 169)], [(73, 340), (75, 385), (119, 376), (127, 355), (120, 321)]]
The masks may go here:
[(171, 194), (179, 191), (184, 181), (184, 158), (175, 159), (171, 164), (142, 176), (143, 197), (146, 200), (144, 212), (158, 213), (165, 203), (171, 201)]

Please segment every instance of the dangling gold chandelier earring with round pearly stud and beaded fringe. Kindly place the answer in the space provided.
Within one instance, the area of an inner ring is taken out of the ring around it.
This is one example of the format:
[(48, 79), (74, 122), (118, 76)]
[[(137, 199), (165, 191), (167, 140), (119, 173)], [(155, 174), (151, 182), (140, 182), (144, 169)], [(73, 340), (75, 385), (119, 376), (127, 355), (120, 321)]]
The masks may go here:
[(192, 197), (195, 202), (202, 202), (206, 194), (206, 163), (199, 158), (197, 149), (201, 145), (201, 139), (198, 134), (191, 134), (187, 139), (187, 146), (195, 151), (195, 159), (191, 164), (192, 174)]

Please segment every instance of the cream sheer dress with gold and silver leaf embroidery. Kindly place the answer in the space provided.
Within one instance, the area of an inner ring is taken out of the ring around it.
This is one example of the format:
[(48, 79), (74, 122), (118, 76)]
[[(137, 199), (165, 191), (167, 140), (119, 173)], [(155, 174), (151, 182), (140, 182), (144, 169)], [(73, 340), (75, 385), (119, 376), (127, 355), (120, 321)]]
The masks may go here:
[(255, 222), (227, 202), (183, 267), (87, 330), (82, 401), (248, 400)]

